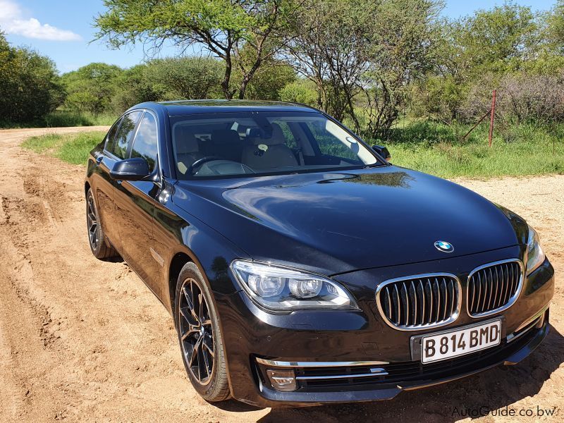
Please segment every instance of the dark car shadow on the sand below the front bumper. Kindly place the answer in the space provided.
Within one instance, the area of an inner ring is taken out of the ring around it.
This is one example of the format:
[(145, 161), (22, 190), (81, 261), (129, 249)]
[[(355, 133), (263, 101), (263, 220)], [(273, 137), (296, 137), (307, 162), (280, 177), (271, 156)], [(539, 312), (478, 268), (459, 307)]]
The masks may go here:
[[(400, 393), (393, 400), (372, 403), (321, 405), (318, 407), (273, 408), (259, 422), (456, 422), (467, 417), (481, 417), (479, 412), (522, 407), (511, 405), (539, 393), (564, 362), (564, 337), (551, 326), (537, 350), (515, 366), (496, 367), (486, 372), (446, 384)], [(530, 403), (537, 412), (553, 410), (559, 404), (539, 399)], [(486, 407), (486, 408), (484, 408)], [(242, 408), (241, 411), (249, 411)], [(470, 416), (465, 414), (470, 410)], [(232, 411), (238, 411), (233, 409)], [(557, 411), (558, 412), (558, 409)], [(474, 413), (477, 413), (474, 415)], [(511, 417), (508, 417), (511, 418)]]

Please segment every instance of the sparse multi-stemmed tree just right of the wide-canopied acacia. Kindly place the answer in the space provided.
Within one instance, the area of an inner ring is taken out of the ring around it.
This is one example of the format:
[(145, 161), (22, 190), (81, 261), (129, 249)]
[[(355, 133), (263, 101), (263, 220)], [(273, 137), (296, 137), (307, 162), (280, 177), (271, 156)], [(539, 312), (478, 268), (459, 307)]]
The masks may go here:
[(306, 0), (290, 20), (284, 56), (317, 87), (317, 107), (360, 130), (355, 96), (368, 68), (366, 33), (376, 1)]

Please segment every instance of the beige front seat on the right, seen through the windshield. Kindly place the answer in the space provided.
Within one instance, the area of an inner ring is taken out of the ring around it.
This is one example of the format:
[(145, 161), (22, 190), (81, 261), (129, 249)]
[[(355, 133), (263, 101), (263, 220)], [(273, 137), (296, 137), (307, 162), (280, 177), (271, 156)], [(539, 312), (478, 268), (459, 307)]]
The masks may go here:
[[(284, 137), (282, 128), (277, 123), (272, 124), (272, 137), (256, 137), (250, 141), (252, 145), (247, 145), (243, 149), (241, 162), (253, 170), (261, 171), (269, 168), (298, 166), (295, 155), (286, 145), (286, 137)], [(259, 146), (261, 147), (259, 148)]]

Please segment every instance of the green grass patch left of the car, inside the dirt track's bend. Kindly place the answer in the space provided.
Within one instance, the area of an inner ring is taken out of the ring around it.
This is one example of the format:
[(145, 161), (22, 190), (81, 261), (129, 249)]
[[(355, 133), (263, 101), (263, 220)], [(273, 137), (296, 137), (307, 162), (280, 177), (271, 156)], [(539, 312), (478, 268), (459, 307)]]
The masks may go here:
[(47, 134), (30, 137), (22, 147), (37, 153), (50, 154), (71, 164), (86, 164), (90, 150), (104, 139), (106, 133), (92, 131), (78, 134)]

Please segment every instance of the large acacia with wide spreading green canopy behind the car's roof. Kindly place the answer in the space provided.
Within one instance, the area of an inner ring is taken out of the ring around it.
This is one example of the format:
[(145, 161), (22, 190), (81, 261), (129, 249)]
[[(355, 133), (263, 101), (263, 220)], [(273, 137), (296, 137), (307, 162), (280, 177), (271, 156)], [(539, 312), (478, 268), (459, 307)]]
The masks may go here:
[[(116, 49), (135, 42), (157, 50), (167, 42), (183, 51), (202, 47), (225, 63), (221, 88), (226, 99), (236, 92), (245, 97), (257, 69), (276, 53), (266, 46), (292, 10), (287, 0), (104, 0), (104, 5), (107, 10), (94, 23), (97, 39)], [(233, 66), (243, 47), (255, 54), (250, 62), (238, 62), (243, 78), (233, 88)]]

